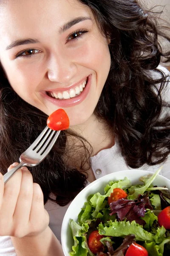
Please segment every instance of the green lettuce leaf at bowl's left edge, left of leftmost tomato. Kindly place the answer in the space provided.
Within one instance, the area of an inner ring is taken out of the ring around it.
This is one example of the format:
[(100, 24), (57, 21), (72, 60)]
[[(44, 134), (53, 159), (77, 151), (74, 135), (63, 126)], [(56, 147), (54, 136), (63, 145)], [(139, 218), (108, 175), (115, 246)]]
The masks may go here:
[(70, 220), (70, 227), (73, 234), (74, 245), (72, 246), (71, 256), (87, 256), (88, 249), (85, 246), (86, 237), (84, 233), (88, 232), (88, 223), (83, 223), (82, 226), (77, 224), (73, 219)]

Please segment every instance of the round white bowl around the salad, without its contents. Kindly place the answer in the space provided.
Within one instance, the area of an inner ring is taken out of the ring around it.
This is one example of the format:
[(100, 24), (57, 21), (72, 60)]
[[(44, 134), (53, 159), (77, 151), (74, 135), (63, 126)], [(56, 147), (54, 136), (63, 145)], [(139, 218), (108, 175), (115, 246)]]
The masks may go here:
[[(69, 252), (72, 251), (72, 246), (74, 245), (74, 239), (71, 234), (69, 221), (71, 218), (74, 219), (74, 221), (78, 220), (79, 212), (81, 211), (81, 208), (84, 206), (84, 203), (87, 201), (89, 195), (95, 194), (97, 192), (104, 195), (104, 188), (111, 180), (123, 180), (125, 177), (127, 177), (133, 185), (142, 184), (142, 182), (139, 181), (139, 178), (148, 174), (153, 174), (153, 172), (134, 169), (113, 172), (111, 174), (105, 175), (104, 177), (95, 180), (94, 182), (86, 186), (81, 192), (79, 192), (79, 194), (74, 198), (74, 200), (68, 207), (68, 210), (65, 213), (65, 216), (62, 221), (61, 243), (64, 255), (70, 256)], [(170, 189), (170, 180), (161, 175), (157, 175), (156, 179), (153, 181), (153, 185), (166, 186), (168, 189)]]

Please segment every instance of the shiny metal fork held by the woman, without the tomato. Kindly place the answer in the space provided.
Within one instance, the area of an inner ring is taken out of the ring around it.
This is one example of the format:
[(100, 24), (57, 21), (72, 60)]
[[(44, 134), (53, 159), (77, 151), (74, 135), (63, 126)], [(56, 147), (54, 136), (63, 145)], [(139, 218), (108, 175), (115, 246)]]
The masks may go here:
[(37, 166), (41, 163), (50, 152), (59, 134), (60, 131), (53, 131), (46, 126), (31, 146), (20, 155), (20, 163), (3, 175), (4, 183), (22, 166)]

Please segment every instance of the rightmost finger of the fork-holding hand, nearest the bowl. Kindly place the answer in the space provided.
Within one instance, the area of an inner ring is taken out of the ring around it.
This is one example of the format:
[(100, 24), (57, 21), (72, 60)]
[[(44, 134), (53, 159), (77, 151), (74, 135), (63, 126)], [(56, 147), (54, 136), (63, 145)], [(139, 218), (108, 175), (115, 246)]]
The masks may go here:
[(49, 215), (44, 209), (42, 189), (39, 184), (33, 184), (33, 198), (30, 213), (30, 232), (42, 232), (49, 224)]

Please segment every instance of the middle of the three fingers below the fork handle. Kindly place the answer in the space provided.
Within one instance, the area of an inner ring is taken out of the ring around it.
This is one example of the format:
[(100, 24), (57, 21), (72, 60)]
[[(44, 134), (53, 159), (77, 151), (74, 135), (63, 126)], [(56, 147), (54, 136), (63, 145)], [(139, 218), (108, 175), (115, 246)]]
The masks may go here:
[(13, 220), (17, 227), (28, 227), (31, 204), (33, 198), (33, 178), (26, 167), (22, 167), (20, 193), (17, 198)]

